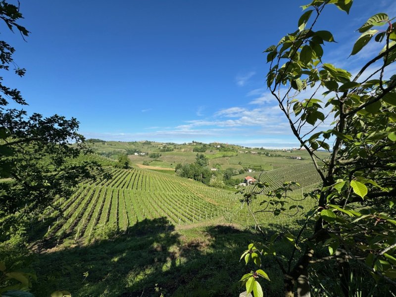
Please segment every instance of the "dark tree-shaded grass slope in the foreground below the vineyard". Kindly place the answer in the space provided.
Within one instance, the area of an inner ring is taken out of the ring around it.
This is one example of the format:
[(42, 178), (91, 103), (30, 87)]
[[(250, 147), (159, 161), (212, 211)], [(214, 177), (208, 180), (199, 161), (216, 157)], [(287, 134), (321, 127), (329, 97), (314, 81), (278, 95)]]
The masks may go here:
[(168, 222), (146, 219), (111, 240), (40, 254), (33, 293), (238, 296), (238, 281), (247, 271), (239, 258), (254, 235), (226, 225), (175, 231)]

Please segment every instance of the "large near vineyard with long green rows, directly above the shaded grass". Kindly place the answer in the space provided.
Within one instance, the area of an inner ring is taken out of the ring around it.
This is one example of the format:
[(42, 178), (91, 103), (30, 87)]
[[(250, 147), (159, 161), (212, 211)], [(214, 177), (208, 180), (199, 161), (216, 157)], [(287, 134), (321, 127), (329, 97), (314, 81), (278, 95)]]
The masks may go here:
[(44, 213), (34, 233), (44, 233), (45, 242), (89, 243), (145, 219), (166, 217), (174, 226), (211, 220), (232, 212), (238, 201), (231, 191), (150, 170), (109, 173), (111, 179), (81, 184), (70, 199), (56, 200), (59, 211)]

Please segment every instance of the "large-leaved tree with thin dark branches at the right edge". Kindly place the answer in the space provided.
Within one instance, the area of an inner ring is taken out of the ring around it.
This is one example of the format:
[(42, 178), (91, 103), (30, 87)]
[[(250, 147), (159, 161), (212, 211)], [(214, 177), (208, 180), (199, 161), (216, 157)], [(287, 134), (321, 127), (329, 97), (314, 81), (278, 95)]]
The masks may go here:
[[(270, 63), (267, 87), (301, 147), (309, 153), (322, 187), (304, 194), (316, 204), (304, 210), (305, 221), (297, 232), (271, 235), (260, 227), (251, 203), (264, 195), (259, 211), (277, 216), (298, 213), (302, 206), (290, 197), (297, 184), (287, 182), (267, 191), (268, 184), (258, 183), (258, 190), (244, 194), (242, 200), (264, 245), (249, 245), (243, 257), (247, 263), (252, 260), (261, 266), (261, 256), (272, 256), (283, 272), (288, 297), (294, 296), (296, 289), (298, 296), (310, 296), (308, 268), (325, 261), (337, 267), (338, 296), (352, 294), (352, 270), (365, 283), (379, 284), (377, 294), (384, 295), (396, 289), (396, 75), (387, 75), (396, 60), (396, 23), (387, 14), (378, 13), (358, 29), (361, 35), (351, 55), (374, 42), (382, 43), (383, 49), (362, 61), (360, 70), (352, 75), (323, 61), (322, 45), (334, 38), (329, 31), (314, 31), (314, 25), (328, 4), (348, 13), (352, 1), (313, 0), (304, 5), (298, 30), (265, 50)], [(323, 101), (320, 93), (328, 99)], [(331, 118), (330, 129), (320, 131), (320, 125)], [(330, 157), (319, 158), (319, 148), (328, 150)], [(290, 253), (274, 249), (280, 239), (291, 245)], [(267, 278), (258, 269), (242, 279), (255, 297), (262, 296), (256, 281), (260, 275)]]

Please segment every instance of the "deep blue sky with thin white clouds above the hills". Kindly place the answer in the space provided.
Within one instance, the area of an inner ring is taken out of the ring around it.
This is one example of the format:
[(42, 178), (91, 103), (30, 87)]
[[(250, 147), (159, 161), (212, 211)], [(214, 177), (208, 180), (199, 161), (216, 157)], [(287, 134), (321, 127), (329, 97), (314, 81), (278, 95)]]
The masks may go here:
[[(7, 73), (28, 112), (76, 117), (104, 140), (297, 145), (266, 90), (264, 49), (297, 29), (300, 5), (284, 0), (21, 0), (27, 42), (10, 34), (26, 76)], [(354, 32), (394, 0), (355, 0), (349, 16), (329, 7), (316, 30), (331, 30), (326, 62), (353, 73), (368, 47), (348, 58)]]

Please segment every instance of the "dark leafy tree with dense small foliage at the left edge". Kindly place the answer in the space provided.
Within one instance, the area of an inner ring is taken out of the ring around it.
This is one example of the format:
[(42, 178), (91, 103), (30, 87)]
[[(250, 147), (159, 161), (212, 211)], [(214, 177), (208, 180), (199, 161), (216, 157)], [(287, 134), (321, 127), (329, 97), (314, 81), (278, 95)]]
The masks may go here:
[[(0, 2), (0, 19), (9, 30), (17, 30), (22, 38), (29, 31), (17, 24), (22, 18), (19, 7)], [(15, 67), (17, 75), (25, 69), (13, 60), (15, 49), (0, 41), (0, 69)], [(0, 78), (0, 241), (19, 234), (24, 238), (26, 222), (46, 207), (58, 210), (53, 201), (68, 198), (75, 186), (84, 179), (102, 172), (96, 162), (84, 161), (90, 152), (85, 139), (77, 133), (79, 122), (53, 115), (28, 115), (26, 111), (8, 107), (27, 105), (17, 89), (3, 84)]]

